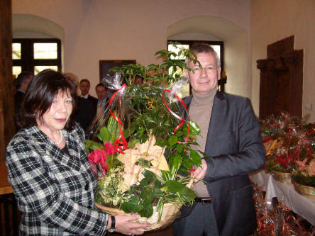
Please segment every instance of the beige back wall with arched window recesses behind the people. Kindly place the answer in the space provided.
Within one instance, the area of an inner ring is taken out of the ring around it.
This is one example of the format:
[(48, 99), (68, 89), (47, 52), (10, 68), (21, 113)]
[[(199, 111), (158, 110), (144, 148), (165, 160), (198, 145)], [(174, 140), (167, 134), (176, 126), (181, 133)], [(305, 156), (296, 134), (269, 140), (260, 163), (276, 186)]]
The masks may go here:
[[(64, 48), (63, 71), (73, 72), (79, 79), (88, 78), (94, 95), (94, 86), (99, 81), (99, 60), (157, 63), (154, 53), (166, 48), (167, 38), (176, 36), (170, 32), (170, 26), (197, 18), (199, 21), (191, 21), (189, 28), (177, 30), (179, 37), (191, 39), (199, 34), (203, 38), (221, 38), (231, 45), (226, 56), (236, 58), (241, 54), (242, 59), (227, 65), (228, 83), (231, 82), (228, 92), (250, 96), (250, 70), (245, 68), (249, 67), (250, 57), (250, 0), (12, 0), (12, 10), (13, 17), (31, 14), (55, 24), (39, 33), (47, 34), (50, 30), (54, 35), (56, 28), (58, 31), (62, 28), (59, 34)], [(202, 23), (203, 18), (211, 22)], [(18, 33), (16, 29), (28, 31), (27, 27), (21, 29), (16, 24), (22, 23), (13, 22), (13, 35)], [(34, 27), (29, 28), (35, 31)], [(233, 36), (238, 33), (243, 34), (242, 40), (233, 43)], [(240, 44), (239, 49), (233, 48)], [(235, 67), (241, 70), (241, 75)], [(232, 85), (236, 83), (245, 86), (234, 88)]]

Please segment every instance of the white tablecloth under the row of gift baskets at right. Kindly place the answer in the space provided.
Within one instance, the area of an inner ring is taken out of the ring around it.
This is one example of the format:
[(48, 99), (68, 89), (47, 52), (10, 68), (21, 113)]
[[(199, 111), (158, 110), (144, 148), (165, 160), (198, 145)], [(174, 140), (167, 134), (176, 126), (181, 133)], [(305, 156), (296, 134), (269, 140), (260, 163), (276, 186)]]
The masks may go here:
[(262, 191), (266, 192), (265, 200), (271, 201), (272, 198), (277, 197), (278, 201), (284, 203), (285, 206), (290, 208), (301, 215), (304, 219), (315, 225), (315, 199), (307, 198), (300, 195), (295, 191), (293, 184), (284, 184), (275, 180), (271, 174), (265, 171), (250, 174), (250, 180), (258, 185)]

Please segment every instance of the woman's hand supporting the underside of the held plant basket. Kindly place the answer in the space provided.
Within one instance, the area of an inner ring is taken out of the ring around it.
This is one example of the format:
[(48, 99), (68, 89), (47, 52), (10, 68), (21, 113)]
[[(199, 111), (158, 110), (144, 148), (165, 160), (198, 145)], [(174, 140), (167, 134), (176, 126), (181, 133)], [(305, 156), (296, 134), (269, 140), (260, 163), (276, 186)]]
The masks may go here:
[[(124, 235), (142, 235), (144, 231), (138, 230), (143, 227), (149, 227), (149, 224), (134, 223), (139, 215), (116, 215), (115, 216), (115, 231), (121, 232)], [(111, 225), (111, 218), (109, 218)]]

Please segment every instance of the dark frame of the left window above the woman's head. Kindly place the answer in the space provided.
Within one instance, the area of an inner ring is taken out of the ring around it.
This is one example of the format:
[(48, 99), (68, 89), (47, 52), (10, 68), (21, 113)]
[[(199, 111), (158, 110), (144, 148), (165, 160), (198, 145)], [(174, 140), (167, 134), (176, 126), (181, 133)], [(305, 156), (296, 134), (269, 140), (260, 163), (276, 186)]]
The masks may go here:
[[(12, 43), (21, 43), (21, 59), (13, 59), (13, 66), (22, 67), (22, 72), (33, 72), (35, 66), (61, 66), (61, 41), (57, 38), (13, 38)], [(57, 59), (34, 59), (34, 43), (57, 43)]]

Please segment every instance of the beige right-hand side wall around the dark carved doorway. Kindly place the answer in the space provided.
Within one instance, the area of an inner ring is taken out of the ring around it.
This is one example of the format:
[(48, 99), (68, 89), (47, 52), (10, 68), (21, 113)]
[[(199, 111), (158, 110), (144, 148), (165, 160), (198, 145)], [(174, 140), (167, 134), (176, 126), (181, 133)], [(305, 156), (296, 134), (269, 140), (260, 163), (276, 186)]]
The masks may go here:
[[(250, 6), (252, 102), (258, 114), (260, 74), (256, 61), (267, 58), (267, 45), (295, 36), (294, 49), (304, 50), (303, 116), (315, 120), (315, 1), (255, 0)], [(302, 79), (302, 78), (301, 78)], [(294, 96), (294, 94), (288, 94)]]

